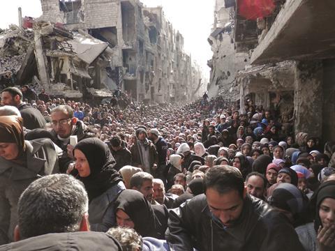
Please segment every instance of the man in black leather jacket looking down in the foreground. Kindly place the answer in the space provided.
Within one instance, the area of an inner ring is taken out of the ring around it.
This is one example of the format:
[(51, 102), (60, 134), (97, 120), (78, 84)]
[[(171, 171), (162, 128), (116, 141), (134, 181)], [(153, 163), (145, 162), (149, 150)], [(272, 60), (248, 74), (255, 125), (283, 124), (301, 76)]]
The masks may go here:
[(238, 169), (212, 167), (204, 184), (205, 195), (170, 211), (172, 250), (304, 250), (285, 215), (246, 195)]

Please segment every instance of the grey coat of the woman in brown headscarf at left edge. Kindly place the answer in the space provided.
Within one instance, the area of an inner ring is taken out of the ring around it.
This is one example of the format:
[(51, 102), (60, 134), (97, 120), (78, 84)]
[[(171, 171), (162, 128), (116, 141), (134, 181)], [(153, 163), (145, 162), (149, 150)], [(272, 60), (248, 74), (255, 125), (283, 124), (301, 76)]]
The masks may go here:
[(27, 166), (0, 157), (0, 244), (13, 241), (21, 193), (38, 177), (59, 172), (57, 152), (50, 139), (24, 142)]

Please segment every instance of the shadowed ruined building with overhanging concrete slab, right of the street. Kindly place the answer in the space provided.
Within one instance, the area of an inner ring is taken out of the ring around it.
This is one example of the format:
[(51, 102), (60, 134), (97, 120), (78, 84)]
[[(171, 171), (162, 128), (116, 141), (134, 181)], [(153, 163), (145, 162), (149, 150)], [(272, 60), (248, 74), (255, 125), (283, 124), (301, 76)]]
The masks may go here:
[(241, 15), (242, 2), (216, 0), (209, 90), (241, 110), (248, 98), (279, 105), (296, 132), (334, 139), (334, 1), (273, 1), (271, 14), (257, 19)]

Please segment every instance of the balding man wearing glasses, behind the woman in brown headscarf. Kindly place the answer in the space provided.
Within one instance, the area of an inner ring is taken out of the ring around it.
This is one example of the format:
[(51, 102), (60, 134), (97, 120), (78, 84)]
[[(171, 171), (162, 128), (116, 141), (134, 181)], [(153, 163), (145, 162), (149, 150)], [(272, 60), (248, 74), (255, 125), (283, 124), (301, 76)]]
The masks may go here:
[(76, 135), (78, 142), (89, 137), (87, 126), (75, 118), (73, 109), (68, 105), (59, 105), (52, 109), (51, 126), (54, 143), (63, 150), (63, 155), (59, 158), (59, 169), (65, 173), (70, 162), (73, 162), (73, 146), (70, 145), (70, 136)]

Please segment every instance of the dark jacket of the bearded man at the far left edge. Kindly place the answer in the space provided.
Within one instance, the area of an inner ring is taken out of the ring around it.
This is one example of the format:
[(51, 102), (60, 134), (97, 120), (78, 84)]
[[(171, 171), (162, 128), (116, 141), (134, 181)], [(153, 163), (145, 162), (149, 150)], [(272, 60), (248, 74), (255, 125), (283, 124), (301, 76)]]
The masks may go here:
[(22, 103), (17, 107), (19, 109), (22, 119), (23, 119), (23, 126), (29, 130), (33, 130), (36, 128), (44, 128), (45, 127), (45, 119), (44, 116), (38, 111), (31, 107), (30, 104)]

